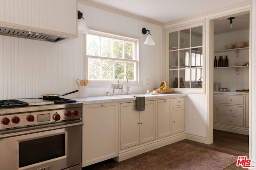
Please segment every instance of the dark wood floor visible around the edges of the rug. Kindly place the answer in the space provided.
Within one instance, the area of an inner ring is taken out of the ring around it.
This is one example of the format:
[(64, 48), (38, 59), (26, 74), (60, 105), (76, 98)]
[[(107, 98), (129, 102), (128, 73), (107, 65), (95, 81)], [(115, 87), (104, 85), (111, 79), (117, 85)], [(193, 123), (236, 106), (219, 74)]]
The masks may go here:
[[(137, 158), (141, 158), (142, 156), (148, 155), (153, 152), (158, 152), (160, 150), (178, 145), (179, 143), (189, 143), (199, 147), (204, 147), (207, 149), (216, 150), (219, 152), (224, 152), (227, 154), (232, 154), (235, 156), (249, 156), (249, 136), (247, 135), (240, 135), (236, 133), (229, 133), (224, 131), (214, 130), (214, 143), (210, 145), (206, 145), (203, 143), (198, 143), (190, 140), (182, 140), (176, 143), (172, 143), (165, 147), (161, 147), (150, 152), (146, 152), (144, 154), (140, 154), (138, 156), (134, 156), (133, 158), (123, 160), (121, 162), (116, 162), (113, 159), (106, 160), (103, 162), (99, 162), (97, 164), (93, 164), (90, 166), (84, 167), (82, 170), (108, 170), (114, 168), (116, 166), (122, 165), (126, 162), (130, 162)], [(242, 168), (241, 166), (237, 167), (236, 163), (232, 164), (231, 166), (225, 168), (225, 170), (246, 170), (247, 168)]]

